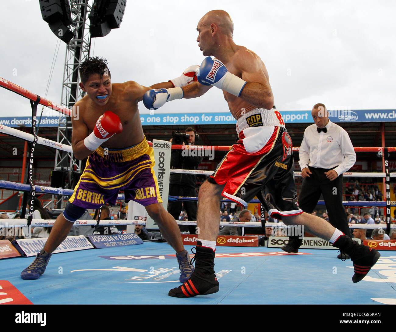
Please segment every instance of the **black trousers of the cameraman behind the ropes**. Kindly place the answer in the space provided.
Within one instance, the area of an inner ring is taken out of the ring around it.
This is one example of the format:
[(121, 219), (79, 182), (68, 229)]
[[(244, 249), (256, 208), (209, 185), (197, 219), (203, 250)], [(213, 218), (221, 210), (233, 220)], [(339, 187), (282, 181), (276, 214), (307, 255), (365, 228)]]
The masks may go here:
[[(185, 197), (197, 197), (197, 192), (195, 188), (186, 187), (183, 185), (169, 185), (169, 195), (170, 196), (185, 196)], [(196, 200), (175, 200), (168, 202), (168, 212), (173, 218), (179, 220), (180, 212), (182, 209), (182, 203), (184, 209), (187, 212), (188, 220), (197, 219), (197, 201)], [(181, 231), (188, 231), (190, 234), (196, 234), (195, 225), (179, 225)]]

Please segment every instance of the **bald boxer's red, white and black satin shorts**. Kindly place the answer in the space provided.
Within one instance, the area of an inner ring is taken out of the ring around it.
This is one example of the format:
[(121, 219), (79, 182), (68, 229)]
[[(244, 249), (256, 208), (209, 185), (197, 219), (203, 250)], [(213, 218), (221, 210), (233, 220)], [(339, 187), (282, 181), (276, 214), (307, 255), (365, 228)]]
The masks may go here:
[(292, 141), (276, 109), (254, 109), (238, 119), (239, 140), (208, 179), (241, 206), (254, 197), (271, 217), (303, 213), (294, 182)]

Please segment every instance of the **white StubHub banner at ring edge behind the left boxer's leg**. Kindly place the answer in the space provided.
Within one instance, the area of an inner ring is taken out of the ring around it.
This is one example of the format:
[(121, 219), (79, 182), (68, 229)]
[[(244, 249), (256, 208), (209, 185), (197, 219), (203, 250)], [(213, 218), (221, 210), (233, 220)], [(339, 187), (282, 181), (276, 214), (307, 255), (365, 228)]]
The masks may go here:
[[(36, 239), (20, 239), (13, 240), (11, 243), (19, 251), (23, 257), (36, 256), (41, 249), (44, 248), (48, 237), (40, 237)], [(92, 244), (84, 237), (84, 235), (68, 236), (53, 254), (58, 252), (67, 252), (75, 250), (93, 249)]]

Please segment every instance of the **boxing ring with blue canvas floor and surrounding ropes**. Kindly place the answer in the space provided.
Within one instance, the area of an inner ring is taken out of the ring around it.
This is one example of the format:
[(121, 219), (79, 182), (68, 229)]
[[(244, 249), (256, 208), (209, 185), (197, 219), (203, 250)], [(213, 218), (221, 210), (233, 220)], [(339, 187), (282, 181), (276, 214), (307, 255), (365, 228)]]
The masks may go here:
[[(59, 145), (57, 142), (36, 135), (35, 107), (40, 103), (68, 115), (73, 114), (73, 110), (42, 99), (2, 78), (0, 78), (0, 86), (30, 99), (32, 105), (32, 134), (0, 126), (1, 133), (31, 143), (28, 183), (0, 180), (0, 189), (26, 193), (23, 211), (28, 195), (30, 198), (37, 193), (72, 195), (72, 190), (34, 185), (32, 174), (34, 173), (33, 158), (36, 144), (72, 152), (69, 146)], [(178, 148), (180, 149), (181, 146), (172, 146), (172, 149)], [(196, 148), (204, 149), (205, 147)], [(228, 151), (229, 147), (217, 147), (217, 149)], [(298, 148), (293, 148), (293, 151), (298, 151)], [(355, 148), (355, 151), (380, 151), (387, 156), (388, 152), (395, 152), (396, 148), (359, 147)], [(173, 171), (206, 175), (211, 173), (211, 171)], [(295, 175), (301, 176), (301, 173), (295, 173)], [(383, 227), (386, 232), (395, 228), (396, 226), (391, 225), (390, 222), (390, 208), (396, 206), (396, 202), (390, 201), (390, 177), (395, 177), (396, 173), (390, 173), (386, 168), (382, 173), (351, 172), (345, 173), (345, 176), (385, 177), (386, 201), (346, 201), (344, 205), (384, 207), (386, 224), (375, 225), (375, 228)], [(124, 199), (124, 195), (119, 195), (118, 198)], [(169, 197), (169, 199), (196, 200), (192, 197)], [(319, 202), (319, 204), (324, 204), (324, 202)], [(13, 222), (12, 219), (5, 220), (8, 222), (8, 227), (15, 225), (18, 227), (52, 226), (54, 222), (54, 220), (32, 219), (30, 213), (28, 218), (15, 219)], [(83, 221), (85, 225), (97, 225), (95, 220)], [(100, 221), (100, 225), (141, 223), (140, 220)], [(178, 223), (191, 225), (195, 222), (178, 221)], [(76, 221), (75, 225), (78, 224), (79, 221)], [(261, 226), (261, 223), (231, 221), (230, 223), (222, 222), (221, 225), (257, 227)], [(267, 225), (282, 226), (279, 223), (266, 223)], [(353, 227), (370, 228), (364, 225)], [(43, 240), (45, 241), (45, 238)], [(185, 248), (191, 252), (193, 246), (185, 244)], [(345, 319), (342, 317), (342, 312), (356, 311), (356, 306), (354, 306), (356, 304), (367, 305), (367, 307), (361, 306), (360, 308), (371, 312), (385, 312), (387, 309), (384, 306), (380, 307), (381, 304), (396, 304), (396, 252), (385, 250), (381, 251), (381, 258), (368, 275), (358, 284), (353, 284), (352, 262), (337, 259), (334, 250), (301, 249), (297, 254), (288, 254), (280, 248), (263, 246), (219, 246), (216, 249), (215, 259), (215, 271), (217, 278), (220, 279), (219, 292), (186, 299), (168, 296), (170, 288), (179, 286), (179, 268), (175, 253), (166, 242), (144, 241), (142, 244), (132, 246), (91, 248), (54, 254), (44, 275), (37, 280), (22, 280), (19, 275), (31, 261), (31, 256), (0, 259), (0, 304), (15, 303), (24, 305), (24, 308), (27, 308), (25, 305), (39, 304), (44, 305), (44, 308), (50, 312), (56, 310), (56, 307), (52, 306), (54, 304), (332, 304), (337, 306), (325, 310), (335, 314), (333, 319), (337, 319), (334, 322), (338, 319)], [(11, 306), (7, 310), (12, 310), (10, 308)], [(299, 313), (301, 310), (301, 307), (294, 308), (297, 308), (293, 309), (294, 313)], [(126, 309), (120, 309), (121, 313), (124, 311), (126, 313)], [(381, 319), (385, 322), (384, 317)]]

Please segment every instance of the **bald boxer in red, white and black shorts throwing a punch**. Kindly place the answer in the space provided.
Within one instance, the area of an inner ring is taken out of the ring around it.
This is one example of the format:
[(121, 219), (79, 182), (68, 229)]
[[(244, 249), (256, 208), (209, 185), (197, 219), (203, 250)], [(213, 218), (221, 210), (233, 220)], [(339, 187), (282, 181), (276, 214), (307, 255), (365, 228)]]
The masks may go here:
[(223, 10), (204, 15), (197, 31), (198, 47), (208, 56), (198, 71), (198, 82), (183, 88), (150, 90), (143, 102), (149, 109), (158, 109), (166, 101), (199, 97), (215, 86), (223, 90), (237, 120), (240, 139), (200, 187), (195, 270), (187, 282), (171, 289), (169, 296), (187, 298), (219, 291), (214, 258), (221, 196), (246, 206), (257, 195), (273, 218), (287, 225), (305, 225), (310, 233), (347, 252), (355, 265), (353, 282), (362, 280), (379, 253), (345, 237), (322, 218), (303, 213), (297, 205), (292, 143), (281, 114), (274, 108), (263, 61), (252, 50), (234, 43), (234, 24)]

